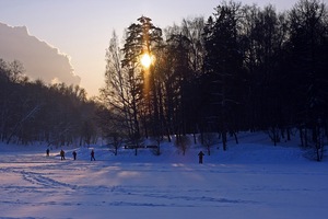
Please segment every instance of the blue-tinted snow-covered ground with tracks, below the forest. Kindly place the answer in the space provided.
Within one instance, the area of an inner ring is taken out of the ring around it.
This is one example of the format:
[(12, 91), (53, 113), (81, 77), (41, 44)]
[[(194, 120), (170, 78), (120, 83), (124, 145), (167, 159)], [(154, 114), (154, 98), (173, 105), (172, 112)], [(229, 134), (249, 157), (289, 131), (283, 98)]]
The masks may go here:
[[(244, 135), (229, 150), (215, 147), (198, 164), (163, 143), (140, 149), (0, 145), (0, 218), (311, 219), (328, 217), (328, 162), (304, 157), (297, 143), (272, 146)], [(72, 159), (77, 150), (78, 160)], [(203, 149), (202, 149), (203, 150)], [(206, 150), (203, 150), (206, 152)]]

